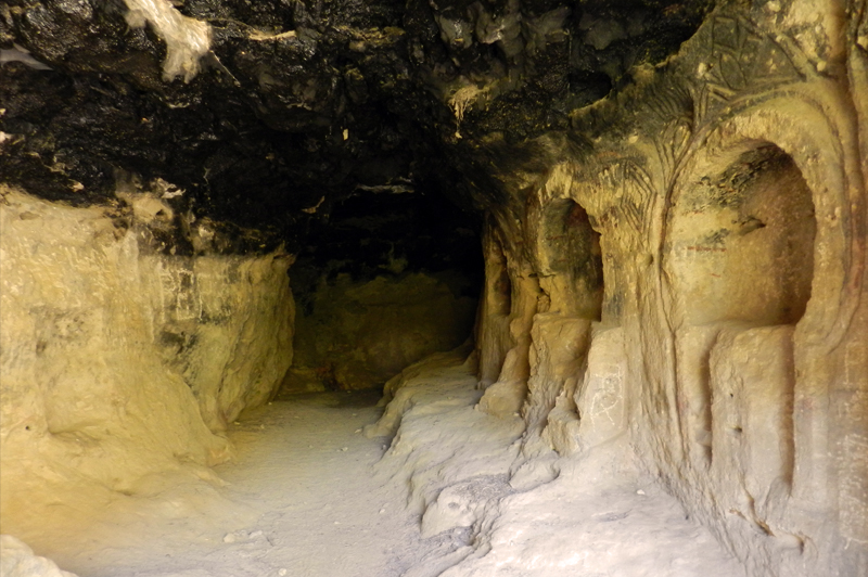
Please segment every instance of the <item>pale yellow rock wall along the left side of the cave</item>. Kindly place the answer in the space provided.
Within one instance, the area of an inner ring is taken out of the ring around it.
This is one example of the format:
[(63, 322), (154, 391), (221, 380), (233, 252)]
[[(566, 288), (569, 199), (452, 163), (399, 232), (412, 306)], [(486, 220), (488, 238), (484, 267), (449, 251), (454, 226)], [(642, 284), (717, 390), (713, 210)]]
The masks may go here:
[(231, 454), (219, 432), (292, 361), (291, 260), (161, 253), (171, 208), (153, 194), (73, 208), (1, 191), (4, 531), (38, 531), (33, 508), (61, 491), (207, 475)]

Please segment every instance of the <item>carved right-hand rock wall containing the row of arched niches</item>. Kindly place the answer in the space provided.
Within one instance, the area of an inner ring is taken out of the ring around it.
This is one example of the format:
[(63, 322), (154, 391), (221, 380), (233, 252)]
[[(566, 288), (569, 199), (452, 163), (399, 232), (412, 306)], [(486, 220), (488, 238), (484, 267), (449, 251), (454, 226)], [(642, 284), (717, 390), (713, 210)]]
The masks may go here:
[(751, 575), (868, 573), (867, 10), (718, 7), (488, 208), (481, 408), (628, 435)]

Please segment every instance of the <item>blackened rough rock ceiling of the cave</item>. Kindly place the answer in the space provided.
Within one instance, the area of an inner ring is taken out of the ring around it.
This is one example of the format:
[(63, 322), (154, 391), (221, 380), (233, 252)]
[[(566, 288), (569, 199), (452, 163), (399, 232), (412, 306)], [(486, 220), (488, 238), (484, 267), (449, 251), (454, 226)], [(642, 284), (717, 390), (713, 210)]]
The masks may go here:
[(177, 0), (210, 28), (184, 79), (164, 74), (154, 27), (130, 25), (128, 5), (155, 1), (0, 2), (0, 182), (91, 204), (118, 178), (161, 178), (186, 209), (291, 249), (349, 197), (496, 202), (490, 166), (533, 164), (542, 134), (580, 148), (571, 112), (677, 52), (713, 8)]

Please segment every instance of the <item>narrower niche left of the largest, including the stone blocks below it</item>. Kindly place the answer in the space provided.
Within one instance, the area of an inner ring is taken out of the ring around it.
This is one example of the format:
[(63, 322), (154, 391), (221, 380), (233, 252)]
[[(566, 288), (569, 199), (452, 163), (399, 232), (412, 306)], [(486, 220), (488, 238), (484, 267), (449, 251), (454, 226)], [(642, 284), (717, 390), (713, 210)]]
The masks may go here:
[(614, 319), (602, 322), (609, 294), (604, 239), (585, 207), (556, 198), (540, 207), (536, 222), (540, 287), (549, 303), (534, 324), (538, 362), (531, 389), (538, 393), (532, 400), (551, 408), (545, 436), (557, 450), (570, 453), (624, 427), (623, 333), (611, 323)]

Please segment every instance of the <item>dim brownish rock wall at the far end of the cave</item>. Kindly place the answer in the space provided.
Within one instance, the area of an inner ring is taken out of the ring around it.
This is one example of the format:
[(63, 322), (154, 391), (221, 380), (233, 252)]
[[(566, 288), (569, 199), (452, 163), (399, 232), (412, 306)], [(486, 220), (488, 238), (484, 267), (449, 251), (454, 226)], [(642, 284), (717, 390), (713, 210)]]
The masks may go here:
[(326, 278), (309, 315), (298, 315), (295, 362), (286, 393), (382, 386), (409, 364), (451, 350), (470, 336), (476, 300), (461, 296), (455, 274), (407, 273), (354, 280)]

